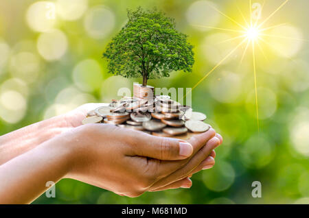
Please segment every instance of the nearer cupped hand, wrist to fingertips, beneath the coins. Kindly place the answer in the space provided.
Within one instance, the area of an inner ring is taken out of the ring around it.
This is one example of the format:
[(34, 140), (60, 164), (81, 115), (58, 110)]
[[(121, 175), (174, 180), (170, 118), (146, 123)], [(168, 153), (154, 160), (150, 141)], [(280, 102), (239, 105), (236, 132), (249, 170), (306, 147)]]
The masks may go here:
[(60, 137), (69, 140), (73, 149), (67, 178), (136, 197), (145, 191), (174, 188), (205, 162), (213, 165), (214, 158), (205, 159), (211, 153), (214, 156), (213, 149), (220, 144), (215, 136), (211, 129), (187, 143), (115, 125), (88, 124)]

